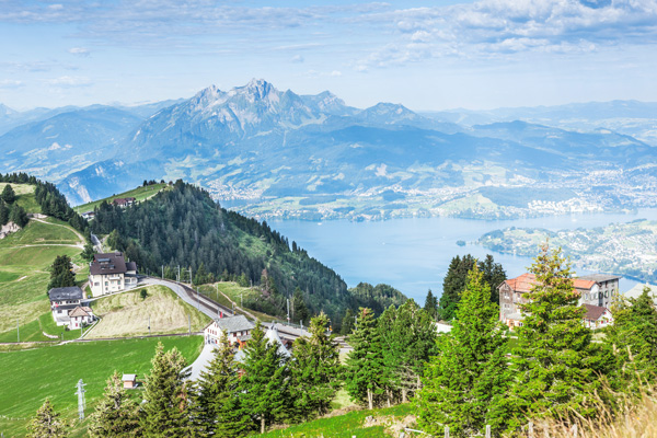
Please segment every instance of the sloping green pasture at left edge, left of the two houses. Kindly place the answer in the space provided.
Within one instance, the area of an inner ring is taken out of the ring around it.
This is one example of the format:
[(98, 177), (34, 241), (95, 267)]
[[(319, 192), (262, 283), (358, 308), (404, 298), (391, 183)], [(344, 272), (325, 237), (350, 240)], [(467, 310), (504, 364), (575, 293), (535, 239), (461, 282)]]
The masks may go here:
[[(78, 242), (68, 224), (56, 219), (49, 221), (54, 224), (31, 220), (23, 230), (0, 240), (0, 342), (16, 339), (16, 319), (23, 327), (21, 341), (47, 341), (41, 333), (38, 319), (49, 312), (46, 296), (49, 265), (57, 255), (65, 254), (76, 265), (87, 265), (79, 247), (48, 246)], [(39, 246), (24, 246), (30, 244)]]

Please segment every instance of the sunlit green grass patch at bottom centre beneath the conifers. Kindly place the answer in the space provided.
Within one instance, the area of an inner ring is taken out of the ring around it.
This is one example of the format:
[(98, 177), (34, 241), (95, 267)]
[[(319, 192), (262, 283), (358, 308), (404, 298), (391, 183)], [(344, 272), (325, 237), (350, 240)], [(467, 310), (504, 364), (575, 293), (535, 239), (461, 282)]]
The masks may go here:
[[(372, 411), (353, 411), (344, 415), (337, 415), (327, 418), (320, 418), (301, 425), (291, 426), (285, 429), (273, 430), (261, 435), (263, 438), (381, 438), (399, 437), (400, 430), (391, 427), (393, 424), (411, 426), (414, 423), (412, 417), (415, 413), (413, 404), (401, 404), (393, 407), (387, 407)], [(376, 425), (366, 427), (365, 418), (373, 416)], [(390, 426), (385, 426), (385, 425)], [(406, 434), (406, 436), (408, 436)]]

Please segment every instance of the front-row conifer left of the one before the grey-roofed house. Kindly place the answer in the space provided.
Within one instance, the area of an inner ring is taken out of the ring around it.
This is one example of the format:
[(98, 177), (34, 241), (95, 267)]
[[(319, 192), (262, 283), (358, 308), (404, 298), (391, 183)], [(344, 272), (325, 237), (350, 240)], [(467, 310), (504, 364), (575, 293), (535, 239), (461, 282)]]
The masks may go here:
[(155, 348), (150, 373), (143, 383), (140, 424), (145, 437), (185, 437), (189, 435), (188, 394), (185, 384), (185, 359), (173, 348)]

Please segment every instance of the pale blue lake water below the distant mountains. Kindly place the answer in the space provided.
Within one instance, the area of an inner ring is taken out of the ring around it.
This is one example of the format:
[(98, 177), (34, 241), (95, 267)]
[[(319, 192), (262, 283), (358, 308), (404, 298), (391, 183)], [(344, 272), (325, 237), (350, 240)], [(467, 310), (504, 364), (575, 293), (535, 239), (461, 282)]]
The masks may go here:
[[(633, 214), (567, 215), (516, 220), (472, 220), (458, 218), (408, 218), (376, 222), (331, 220), (272, 220), (268, 223), (296, 241), (308, 253), (335, 269), (349, 287), (359, 281), (385, 283), (407, 297), (424, 303), (430, 288), (438, 295), (442, 278), (456, 255), (472, 254), (484, 258), (488, 250), (472, 242), (482, 234), (507, 227), (561, 229), (603, 227), (635, 219), (657, 220), (657, 209), (639, 209)], [(457, 245), (458, 240), (468, 242)], [(537, 249), (538, 251), (538, 249)], [(509, 277), (516, 277), (531, 265), (530, 257), (492, 253)], [(578, 272), (584, 275), (589, 272)], [(621, 280), (621, 291), (636, 281)]]

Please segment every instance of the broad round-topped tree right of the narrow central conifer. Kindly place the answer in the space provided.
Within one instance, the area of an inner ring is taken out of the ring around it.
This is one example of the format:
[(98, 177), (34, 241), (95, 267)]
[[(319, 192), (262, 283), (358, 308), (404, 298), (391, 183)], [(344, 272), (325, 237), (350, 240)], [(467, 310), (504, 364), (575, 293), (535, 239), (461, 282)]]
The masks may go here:
[(434, 319), (414, 300), (388, 308), (378, 320), (388, 404), (408, 401), (422, 388), (425, 364), (437, 353)]

